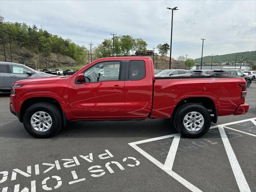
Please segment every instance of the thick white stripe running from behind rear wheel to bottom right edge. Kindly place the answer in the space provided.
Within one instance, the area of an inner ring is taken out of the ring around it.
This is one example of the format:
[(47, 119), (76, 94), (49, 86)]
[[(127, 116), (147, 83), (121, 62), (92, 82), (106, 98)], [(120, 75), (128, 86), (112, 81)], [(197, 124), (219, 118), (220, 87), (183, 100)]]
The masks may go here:
[(225, 132), (223, 126), (218, 126), (218, 128), (220, 131), (220, 136), (222, 138), (222, 142), (226, 149), (226, 153), (228, 155), (228, 160), (230, 162), (231, 168), (232, 168), (234, 176), (236, 178), (236, 183), (238, 184), (239, 190), (241, 192), (250, 192), (251, 190), (250, 190), (248, 183), (244, 177), (244, 173), (242, 172), (242, 169), (238, 163), (238, 160), (237, 160), (236, 155), (232, 149), (232, 146), (230, 145), (230, 142), (228, 140), (226, 132)]

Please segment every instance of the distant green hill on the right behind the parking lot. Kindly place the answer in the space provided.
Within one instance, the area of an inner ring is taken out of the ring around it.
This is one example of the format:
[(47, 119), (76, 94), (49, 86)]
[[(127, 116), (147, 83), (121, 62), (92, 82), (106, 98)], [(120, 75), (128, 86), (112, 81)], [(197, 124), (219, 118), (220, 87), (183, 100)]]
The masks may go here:
[[(212, 59), (212, 62), (214, 62), (214, 63), (222, 63), (222, 62), (234, 63), (235, 60), (236, 60), (236, 62), (240, 62), (242, 55), (243, 55), (244, 62), (247, 62), (247, 61), (248, 61), (247, 63), (250, 63), (250, 62), (255, 63), (256, 62), (256, 51), (246, 51), (246, 52), (231, 53), (231, 54), (225, 54), (225, 55), (214, 55), (213, 58), (212, 58), (212, 56), (204, 56), (203, 62), (210, 63), (211, 59)], [(236, 56), (237, 56), (237, 58), (236, 58)], [(195, 61), (195, 63), (200, 63), (201, 58), (196, 58), (194, 61)]]

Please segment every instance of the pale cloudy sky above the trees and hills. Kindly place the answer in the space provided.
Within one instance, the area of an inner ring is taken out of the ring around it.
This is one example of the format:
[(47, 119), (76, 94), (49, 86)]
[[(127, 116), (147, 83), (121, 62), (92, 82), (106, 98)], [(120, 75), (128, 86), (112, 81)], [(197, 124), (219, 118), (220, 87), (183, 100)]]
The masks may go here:
[[(10, 1), (0, 0), (5, 21), (42, 26), (77, 44), (97, 45), (110, 33), (142, 38), (148, 49), (170, 44), (172, 57), (204, 56), (256, 50), (256, 1)], [(157, 51), (156, 51), (157, 52)]]

